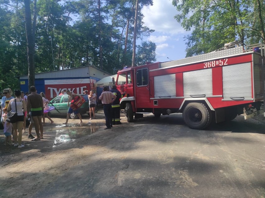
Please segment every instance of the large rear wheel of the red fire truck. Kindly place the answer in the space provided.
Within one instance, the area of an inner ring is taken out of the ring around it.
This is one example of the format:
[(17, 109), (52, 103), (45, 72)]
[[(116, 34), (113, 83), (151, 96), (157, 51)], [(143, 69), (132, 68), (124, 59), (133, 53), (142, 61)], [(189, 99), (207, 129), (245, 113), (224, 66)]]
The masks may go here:
[(202, 103), (189, 103), (184, 108), (183, 119), (192, 129), (204, 129), (212, 122), (212, 111)]

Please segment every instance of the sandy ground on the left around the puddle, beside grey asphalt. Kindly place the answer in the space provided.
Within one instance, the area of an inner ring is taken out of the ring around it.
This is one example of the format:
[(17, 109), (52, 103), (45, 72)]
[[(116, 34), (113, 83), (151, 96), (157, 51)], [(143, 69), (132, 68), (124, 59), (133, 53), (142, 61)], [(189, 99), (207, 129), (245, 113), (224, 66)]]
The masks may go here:
[[(66, 120), (64, 116), (52, 117), (54, 124), (50, 124), (46, 118), (44, 139), (32, 142), (27, 138), (28, 133), (23, 133), (22, 144), (25, 147), (22, 149), (4, 145), (3, 130), (0, 130), (0, 197), (30, 197), (42, 186), (49, 185), (57, 176), (81, 163), (83, 155), (89, 155), (96, 149), (96, 146), (86, 145), (86, 141), (95, 139), (92, 144), (100, 144), (99, 136), (109, 131), (104, 130), (103, 111), (96, 113), (96, 116), (96, 119), (90, 120), (88, 115), (83, 115), (83, 124), (79, 124), (79, 119), (69, 119), (68, 126), (63, 124)], [(123, 127), (117, 125), (111, 131), (122, 131)], [(69, 142), (57, 146), (55, 133), (63, 130), (77, 134), (70, 137)], [(35, 128), (32, 134), (35, 136)], [(64, 159), (67, 162), (62, 164)]]

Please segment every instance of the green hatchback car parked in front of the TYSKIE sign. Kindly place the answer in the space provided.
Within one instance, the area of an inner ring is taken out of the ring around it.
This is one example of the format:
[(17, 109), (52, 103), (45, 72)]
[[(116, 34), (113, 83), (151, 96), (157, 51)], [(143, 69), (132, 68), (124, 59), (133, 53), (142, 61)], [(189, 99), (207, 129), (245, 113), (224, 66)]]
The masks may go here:
[[(86, 94), (81, 94), (81, 96), (86, 100), (86, 102), (80, 107), (78, 108), (78, 112), (82, 115), (82, 114), (89, 114), (89, 101), (88, 101), (88, 95)], [(48, 113), (49, 116), (53, 116), (53, 115), (67, 115), (68, 112), (68, 95), (59, 95), (57, 97), (55, 97), (54, 99), (52, 99), (48, 106), (51, 107), (53, 106), (55, 109), (50, 111)], [(72, 119), (76, 119), (78, 116), (75, 113), (71, 113), (70, 117)]]

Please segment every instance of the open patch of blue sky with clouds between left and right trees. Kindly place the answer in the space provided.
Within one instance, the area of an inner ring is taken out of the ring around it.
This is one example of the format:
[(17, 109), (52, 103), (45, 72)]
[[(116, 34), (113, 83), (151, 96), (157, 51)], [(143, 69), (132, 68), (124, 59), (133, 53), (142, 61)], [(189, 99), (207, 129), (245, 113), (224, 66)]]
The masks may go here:
[(146, 40), (156, 43), (157, 62), (185, 58), (186, 45), (183, 37), (189, 32), (174, 19), (177, 13), (172, 0), (153, 0), (153, 6), (142, 9), (144, 25), (155, 30)]

